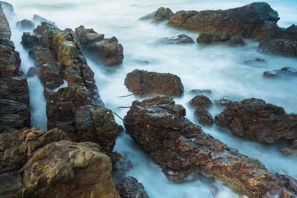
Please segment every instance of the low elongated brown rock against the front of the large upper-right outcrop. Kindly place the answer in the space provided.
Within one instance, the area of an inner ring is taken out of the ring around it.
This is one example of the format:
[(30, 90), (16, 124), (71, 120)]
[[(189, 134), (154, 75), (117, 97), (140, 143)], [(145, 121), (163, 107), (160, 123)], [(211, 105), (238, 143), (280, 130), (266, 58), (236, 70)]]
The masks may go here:
[(197, 43), (220, 44), (220, 43), (229, 41), (231, 39), (231, 37), (232, 37), (231, 35), (228, 35), (226, 33), (219, 33), (219, 34), (201, 33), (201, 34), (199, 34), (199, 36), (197, 38)]

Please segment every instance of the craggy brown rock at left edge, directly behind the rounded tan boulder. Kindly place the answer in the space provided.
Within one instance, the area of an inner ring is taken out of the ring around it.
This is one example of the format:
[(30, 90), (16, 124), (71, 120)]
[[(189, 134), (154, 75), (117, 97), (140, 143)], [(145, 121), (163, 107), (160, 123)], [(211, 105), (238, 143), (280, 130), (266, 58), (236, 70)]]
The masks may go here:
[(39, 148), (52, 142), (69, 140), (67, 135), (52, 129), (46, 132), (37, 127), (10, 129), (0, 134), (0, 174), (19, 170)]

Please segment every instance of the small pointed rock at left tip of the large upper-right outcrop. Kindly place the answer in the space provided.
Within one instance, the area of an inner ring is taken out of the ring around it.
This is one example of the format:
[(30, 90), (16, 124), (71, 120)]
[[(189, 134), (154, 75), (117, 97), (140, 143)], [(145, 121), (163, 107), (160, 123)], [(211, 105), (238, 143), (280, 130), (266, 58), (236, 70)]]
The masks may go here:
[(174, 13), (169, 8), (160, 7), (157, 11), (149, 13), (138, 20), (142, 21), (151, 21), (152, 23), (159, 24), (164, 21), (169, 21), (170, 17), (172, 17)]

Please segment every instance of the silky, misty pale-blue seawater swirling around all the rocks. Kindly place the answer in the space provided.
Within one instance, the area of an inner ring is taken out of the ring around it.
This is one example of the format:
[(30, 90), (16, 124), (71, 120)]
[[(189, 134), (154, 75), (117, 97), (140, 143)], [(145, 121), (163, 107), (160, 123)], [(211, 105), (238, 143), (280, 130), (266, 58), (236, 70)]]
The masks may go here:
[[(228, 9), (252, 1), (241, 0), (10, 0), (17, 14), (9, 18), (12, 28), (12, 40), (22, 58), (21, 67), (27, 73), (33, 66), (28, 57), (28, 51), (19, 44), (22, 32), (15, 28), (16, 21), (31, 19), (33, 14), (39, 14), (54, 21), (60, 29), (75, 29), (79, 25), (94, 28), (105, 38), (116, 36), (124, 47), (124, 61), (120, 66), (106, 67), (88, 58), (88, 63), (95, 72), (95, 79), (101, 99), (105, 105), (121, 117), (128, 109), (119, 106), (130, 106), (134, 96), (129, 95), (124, 86), (127, 73), (134, 69), (173, 73), (178, 75), (185, 87), (182, 98), (175, 99), (187, 109), (187, 117), (194, 119), (194, 110), (188, 106), (188, 101), (194, 97), (189, 94), (192, 89), (210, 89), (210, 99), (220, 99), (228, 96), (233, 100), (247, 98), (264, 99), (267, 103), (283, 106), (287, 112), (297, 112), (297, 79), (266, 79), (263, 72), (282, 67), (297, 68), (297, 59), (263, 54), (257, 51), (257, 42), (245, 40), (243, 47), (189, 45), (156, 45), (155, 41), (163, 37), (173, 37), (187, 34), (194, 40), (198, 33), (178, 30), (164, 24), (155, 26), (137, 21), (143, 15), (157, 10), (158, 7), (169, 7), (173, 12), (178, 10)], [(281, 27), (297, 24), (296, 0), (268, 0), (271, 7), (279, 12)], [(245, 65), (246, 60), (263, 58), (267, 64)], [(140, 64), (147, 60), (149, 64)], [(46, 128), (43, 87), (37, 77), (28, 78), (32, 112), (32, 125)], [(210, 113), (214, 117), (222, 109), (212, 107)], [(119, 124), (122, 121), (116, 117)], [(288, 143), (263, 145), (249, 139), (233, 136), (228, 130), (216, 126), (202, 127), (206, 133), (221, 140), (229, 147), (237, 148), (241, 153), (258, 158), (266, 167), (274, 171), (286, 171), (297, 175), (296, 160), (282, 156), (278, 148), (288, 146)], [(136, 177), (145, 186), (150, 198), (211, 198), (208, 185), (215, 184), (219, 188), (218, 198), (233, 198), (237, 195), (226, 185), (217, 183), (213, 178), (195, 174), (183, 183), (170, 184), (154, 160), (145, 153), (129, 135), (121, 134), (114, 148), (126, 154), (134, 164), (134, 169), (128, 174)]]

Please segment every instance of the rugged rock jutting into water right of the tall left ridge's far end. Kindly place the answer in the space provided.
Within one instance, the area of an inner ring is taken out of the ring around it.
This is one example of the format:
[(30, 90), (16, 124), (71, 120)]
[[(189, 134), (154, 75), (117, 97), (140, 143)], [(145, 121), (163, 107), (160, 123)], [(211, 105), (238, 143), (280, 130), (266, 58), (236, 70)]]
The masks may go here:
[(107, 66), (118, 65), (123, 62), (123, 46), (115, 37), (104, 39), (103, 34), (98, 34), (93, 29), (85, 29), (84, 26), (75, 28), (83, 49), (95, 60)]

